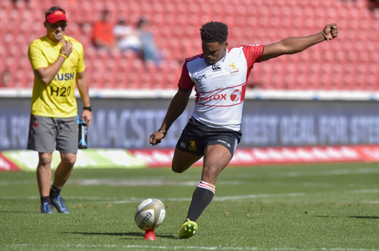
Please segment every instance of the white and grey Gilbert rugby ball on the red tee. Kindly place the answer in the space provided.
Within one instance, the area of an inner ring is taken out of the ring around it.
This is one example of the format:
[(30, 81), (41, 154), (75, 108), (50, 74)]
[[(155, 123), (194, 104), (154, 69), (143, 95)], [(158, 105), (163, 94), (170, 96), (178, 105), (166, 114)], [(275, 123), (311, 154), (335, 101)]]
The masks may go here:
[(157, 228), (164, 220), (166, 209), (158, 199), (147, 199), (141, 202), (134, 214), (137, 227), (142, 230)]

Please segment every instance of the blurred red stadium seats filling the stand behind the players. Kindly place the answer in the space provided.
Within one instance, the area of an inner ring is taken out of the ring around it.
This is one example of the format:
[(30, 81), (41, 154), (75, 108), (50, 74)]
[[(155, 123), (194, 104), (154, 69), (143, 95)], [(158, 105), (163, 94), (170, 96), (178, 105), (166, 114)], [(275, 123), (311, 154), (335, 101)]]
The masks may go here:
[[(332, 4), (333, 2), (333, 4)], [(249, 86), (262, 90), (362, 90), (379, 85), (379, 10), (369, 0), (2, 0), (0, 2), (0, 73), (9, 70), (13, 88), (31, 88), (29, 43), (43, 36), (45, 10), (59, 5), (67, 11), (66, 34), (85, 47), (91, 88), (176, 89), (186, 57), (201, 53), (200, 26), (221, 21), (229, 27), (229, 46), (268, 44), (288, 36), (321, 31), (336, 22), (333, 46), (318, 44), (295, 56), (256, 64)], [(217, 5), (217, 8), (214, 6)], [(149, 20), (165, 60), (145, 64), (130, 53), (96, 51), (92, 23), (105, 8), (113, 21), (126, 17)]]

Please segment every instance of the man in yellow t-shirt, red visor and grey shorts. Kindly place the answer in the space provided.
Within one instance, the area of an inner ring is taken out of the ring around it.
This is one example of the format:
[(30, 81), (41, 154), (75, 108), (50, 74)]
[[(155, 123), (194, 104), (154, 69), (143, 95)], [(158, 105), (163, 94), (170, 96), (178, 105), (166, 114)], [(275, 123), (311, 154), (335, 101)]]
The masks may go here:
[[(27, 149), (38, 152), (37, 182), (41, 213), (70, 213), (60, 192), (69, 178), (78, 150), (75, 84), (83, 102), (81, 120), (87, 128), (92, 120), (83, 45), (65, 36), (68, 20), (60, 7), (45, 14), (46, 35), (30, 43), (28, 57), (34, 72), (33, 95)], [(52, 179), (51, 161), (56, 149), (61, 162)]]

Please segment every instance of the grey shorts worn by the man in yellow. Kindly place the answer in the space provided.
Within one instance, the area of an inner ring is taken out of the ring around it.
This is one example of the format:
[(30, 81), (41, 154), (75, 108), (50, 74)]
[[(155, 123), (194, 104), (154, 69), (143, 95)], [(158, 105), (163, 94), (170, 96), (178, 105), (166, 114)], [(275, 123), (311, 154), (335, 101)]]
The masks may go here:
[(78, 152), (77, 116), (59, 118), (31, 114), (27, 149), (52, 153), (55, 144), (62, 153)]

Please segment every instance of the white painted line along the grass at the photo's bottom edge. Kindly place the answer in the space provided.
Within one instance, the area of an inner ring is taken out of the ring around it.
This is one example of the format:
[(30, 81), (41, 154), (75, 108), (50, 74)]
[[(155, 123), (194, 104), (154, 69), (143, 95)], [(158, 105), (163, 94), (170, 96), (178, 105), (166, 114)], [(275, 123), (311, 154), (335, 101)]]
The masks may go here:
[(38, 247), (63, 247), (63, 248), (139, 248), (143, 250), (157, 248), (157, 249), (170, 249), (170, 250), (185, 250), (185, 249), (196, 249), (196, 250), (272, 250), (272, 251), (281, 251), (281, 250), (323, 250), (323, 251), (378, 251), (379, 249), (372, 248), (344, 248), (344, 247), (320, 247), (320, 248), (297, 248), (297, 247), (258, 247), (258, 246), (165, 246), (165, 245), (90, 245), (90, 244), (72, 244), (72, 245), (60, 245), (60, 244), (0, 244), (0, 246), (5, 247), (30, 247), (30, 248), (38, 248)]

